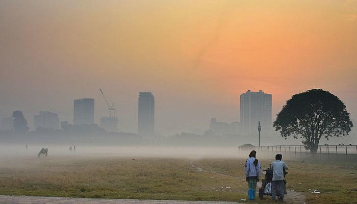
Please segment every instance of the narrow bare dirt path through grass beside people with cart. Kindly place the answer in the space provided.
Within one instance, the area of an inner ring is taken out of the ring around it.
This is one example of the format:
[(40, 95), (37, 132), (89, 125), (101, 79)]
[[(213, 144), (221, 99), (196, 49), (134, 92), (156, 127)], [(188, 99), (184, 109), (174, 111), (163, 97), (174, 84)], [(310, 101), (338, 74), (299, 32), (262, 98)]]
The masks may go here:
[[(222, 174), (222, 173), (218, 173), (215, 171), (208, 171), (206, 169), (203, 169), (202, 167), (197, 166), (194, 163), (194, 160), (190, 161), (191, 167), (194, 168), (197, 172), (210, 172), (210, 173), (215, 173), (218, 175), (223, 175), (223, 176), (229, 176), (229, 177), (233, 177), (235, 179), (242, 179), (242, 177), (238, 177), (238, 176), (232, 176), (232, 175), (226, 175), (226, 174)], [(262, 186), (261, 182), (257, 183), (257, 187)], [(291, 191), (289, 189), (287, 189), (288, 194), (284, 197), (284, 203), (288, 203), (288, 204), (304, 204), (305, 202), (305, 196), (302, 192), (299, 191)]]

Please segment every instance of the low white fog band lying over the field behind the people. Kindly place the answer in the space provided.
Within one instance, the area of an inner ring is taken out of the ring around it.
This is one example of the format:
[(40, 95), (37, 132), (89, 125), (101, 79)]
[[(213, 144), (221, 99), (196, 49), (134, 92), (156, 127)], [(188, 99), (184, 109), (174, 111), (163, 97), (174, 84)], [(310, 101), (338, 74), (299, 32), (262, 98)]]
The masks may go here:
[[(38, 158), (42, 147), (48, 148), (46, 158)], [(73, 146), (72, 146), (73, 147)], [(251, 150), (257, 150), (252, 148)], [(0, 159), (39, 159), (56, 160), (59, 158), (247, 158), (250, 149), (238, 150), (237, 147), (148, 147), (148, 146), (76, 146), (76, 150), (69, 150), (69, 146), (31, 146), (20, 145), (0, 146)], [(259, 152), (259, 151), (258, 151)], [(267, 154), (268, 153), (268, 154)], [(258, 154), (260, 159), (273, 159), (273, 154), (265, 152)]]

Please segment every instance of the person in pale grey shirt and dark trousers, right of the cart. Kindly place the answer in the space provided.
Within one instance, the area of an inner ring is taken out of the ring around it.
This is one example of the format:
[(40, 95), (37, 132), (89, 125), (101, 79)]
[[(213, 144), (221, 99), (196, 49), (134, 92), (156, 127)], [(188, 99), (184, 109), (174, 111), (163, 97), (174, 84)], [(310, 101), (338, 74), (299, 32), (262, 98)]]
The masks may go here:
[(282, 162), (283, 156), (277, 154), (275, 161), (271, 163), (271, 170), (273, 170), (273, 179), (271, 182), (271, 199), (275, 200), (276, 195), (279, 192), (279, 200), (284, 200), (285, 183), (284, 183), (284, 170), (288, 169), (288, 165)]

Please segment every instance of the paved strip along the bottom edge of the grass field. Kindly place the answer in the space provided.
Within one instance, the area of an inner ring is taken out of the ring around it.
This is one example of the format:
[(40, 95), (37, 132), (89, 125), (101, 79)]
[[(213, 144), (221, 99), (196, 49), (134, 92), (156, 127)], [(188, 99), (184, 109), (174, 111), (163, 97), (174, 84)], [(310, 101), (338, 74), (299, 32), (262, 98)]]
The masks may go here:
[(215, 201), (185, 201), (185, 200), (134, 200), (134, 199), (104, 199), (104, 198), (69, 198), (44, 196), (11, 196), (0, 195), (2, 204), (237, 204), (237, 202)]

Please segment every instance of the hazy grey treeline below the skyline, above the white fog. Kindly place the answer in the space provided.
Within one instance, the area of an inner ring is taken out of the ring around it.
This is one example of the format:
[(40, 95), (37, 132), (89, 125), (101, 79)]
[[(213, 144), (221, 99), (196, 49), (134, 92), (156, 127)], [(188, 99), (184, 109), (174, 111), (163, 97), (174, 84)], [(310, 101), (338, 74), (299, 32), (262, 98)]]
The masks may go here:
[[(258, 135), (226, 134), (215, 135), (206, 132), (202, 135), (192, 133), (180, 133), (172, 136), (157, 136), (150, 140), (144, 140), (133, 133), (108, 133), (97, 125), (75, 125), (71, 129), (47, 130), (37, 129), (26, 133), (16, 131), (0, 132), (2, 144), (72, 144), (72, 145), (133, 145), (133, 146), (240, 146), (245, 143), (258, 144)], [(326, 141), (321, 141), (321, 144)], [(354, 132), (346, 138), (334, 138), (329, 144), (339, 142), (356, 143)], [(300, 140), (285, 140), (278, 133), (261, 136), (262, 145), (288, 145), (301, 144)]]

